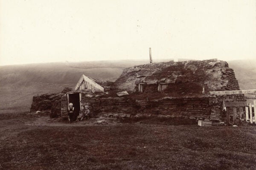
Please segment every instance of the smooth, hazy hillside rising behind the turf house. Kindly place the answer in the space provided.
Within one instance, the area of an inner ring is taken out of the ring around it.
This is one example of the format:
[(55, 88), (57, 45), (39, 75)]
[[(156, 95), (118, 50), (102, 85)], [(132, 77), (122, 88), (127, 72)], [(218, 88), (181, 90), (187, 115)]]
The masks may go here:
[[(0, 113), (29, 111), (32, 96), (73, 88), (82, 74), (115, 81), (124, 68), (146, 63), (148, 60), (114, 60), (0, 66)], [(234, 69), (241, 89), (256, 89), (256, 59), (228, 61), (228, 64)]]

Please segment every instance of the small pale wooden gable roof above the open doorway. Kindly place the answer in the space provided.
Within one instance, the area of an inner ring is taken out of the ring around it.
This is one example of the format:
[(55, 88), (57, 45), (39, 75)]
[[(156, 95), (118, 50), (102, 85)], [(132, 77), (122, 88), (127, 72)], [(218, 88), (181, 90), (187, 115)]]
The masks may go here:
[(85, 76), (84, 74), (80, 77), (79, 81), (75, 86), (76, 90), (91, 90), (92, 92), (104, 92), (104, 88), (93, 81), (90, 77)]

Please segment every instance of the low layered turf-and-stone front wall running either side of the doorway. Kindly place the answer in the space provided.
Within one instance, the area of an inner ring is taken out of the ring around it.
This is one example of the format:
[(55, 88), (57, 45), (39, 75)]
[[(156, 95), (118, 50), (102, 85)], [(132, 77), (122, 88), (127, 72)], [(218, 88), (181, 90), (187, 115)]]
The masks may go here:
[[(219, 119), (221, 112), (212, 116), (214, 107), (218, 109), (220, 103), (214, 100), (202, 98), (163, 98), (155, 100), (134, 100), (126, 97), (108, 97), (105, 94), (82, 94), (81, 105), (88, 104), (90, 111), (98, 116), (160, 116), (180, 118)], [(67, 95), (61, 98), (61, 116), (67, 116)]]

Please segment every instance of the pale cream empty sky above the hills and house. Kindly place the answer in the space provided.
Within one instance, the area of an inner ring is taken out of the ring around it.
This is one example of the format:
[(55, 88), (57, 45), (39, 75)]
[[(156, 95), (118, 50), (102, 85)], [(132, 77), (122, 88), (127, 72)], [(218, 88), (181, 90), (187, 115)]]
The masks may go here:
[(256, 58), (256, 0), (0, 0), (0, 65)]

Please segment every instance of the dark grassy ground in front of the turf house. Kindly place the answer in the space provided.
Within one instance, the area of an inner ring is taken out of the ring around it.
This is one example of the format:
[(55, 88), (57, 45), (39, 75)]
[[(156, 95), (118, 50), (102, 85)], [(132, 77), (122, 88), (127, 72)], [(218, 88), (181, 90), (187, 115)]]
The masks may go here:
[(256, 169), (256, 127), (32, 126), (0, 118), (0, 169)]

